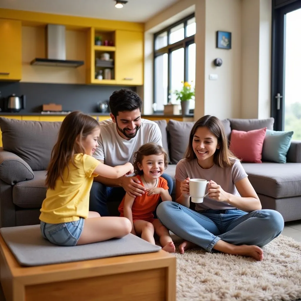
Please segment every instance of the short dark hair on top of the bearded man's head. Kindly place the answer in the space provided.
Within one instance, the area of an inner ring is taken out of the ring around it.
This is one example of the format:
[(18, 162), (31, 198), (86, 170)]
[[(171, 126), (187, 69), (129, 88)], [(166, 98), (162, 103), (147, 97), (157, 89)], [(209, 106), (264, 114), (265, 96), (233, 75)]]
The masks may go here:
[(113, 92), (110, 96), (109, 106), (111, 113), (116, 118), (118, 112), (133, 111), (142, 109), (142, 100), (140, 96), (130, 89), (121, 89)]

